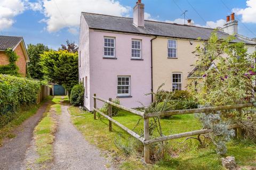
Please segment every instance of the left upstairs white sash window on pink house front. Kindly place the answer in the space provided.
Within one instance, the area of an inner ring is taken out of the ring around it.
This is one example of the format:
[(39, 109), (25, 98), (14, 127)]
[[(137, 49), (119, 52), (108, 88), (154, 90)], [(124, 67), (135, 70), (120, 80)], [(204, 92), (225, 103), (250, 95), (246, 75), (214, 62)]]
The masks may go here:
[(115, 57), (115, 38), (104, 38), (104, 57)]

